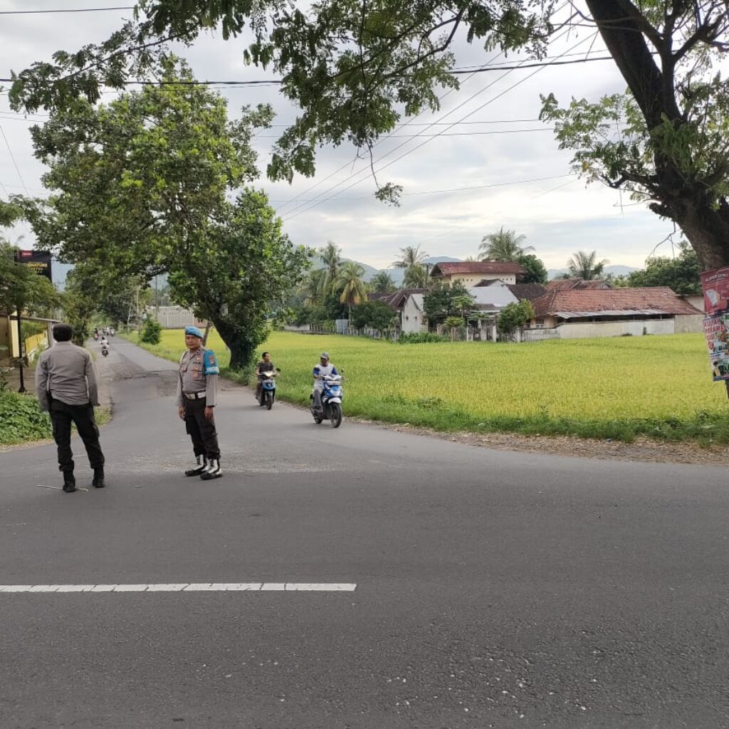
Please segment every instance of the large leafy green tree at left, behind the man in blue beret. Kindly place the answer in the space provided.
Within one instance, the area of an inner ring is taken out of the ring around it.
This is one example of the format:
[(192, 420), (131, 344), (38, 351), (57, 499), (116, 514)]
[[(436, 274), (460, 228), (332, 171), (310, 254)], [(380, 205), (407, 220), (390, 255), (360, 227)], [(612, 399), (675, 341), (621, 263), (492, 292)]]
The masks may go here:
[[(249, 364), (265, 335), (267, 303), (305, 262), (281, 235), (262, 193), (250, 139), (270, 110), (230, 122), (225, 100), (174, 60), (160, 87), (109, 105), (77, 101), (32, 130), (55, 195), (36, 215), (44, 246), (114, 277), (167, 272), (173, 295), (211, 320), (230, 367)], [(235, 195), (235, 198), (231, 198)]]

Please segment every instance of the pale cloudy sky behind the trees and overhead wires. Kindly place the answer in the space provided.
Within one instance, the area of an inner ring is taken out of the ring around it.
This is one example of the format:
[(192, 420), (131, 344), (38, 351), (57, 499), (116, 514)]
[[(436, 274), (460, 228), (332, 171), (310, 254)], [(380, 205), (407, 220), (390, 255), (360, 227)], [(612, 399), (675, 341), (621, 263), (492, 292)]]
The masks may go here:
[[(50, 60), (58, 49), (76, 50), (100, 42), (130, 10), (78, 13), (9, 11), (119, 7), (125, 0), (0, 0), (0, 77), (34, 61)], [(208, 34), (192, 49), (180, 50), (201, 80), (272, 79), (270, 71), (243, 65), (243, 39), (224, 42)], [(578, 55), (579, 54), (579, 55)], [(590, 28), (573, 29), (550, 48), (549, 58), (562, 60), (607, 55)], [(486, 54), (461, 42), (460, 68), (494, 63), (518, 64)], [(525, 61), (526, 62), (526, 61)], [(375, 171), (383, 182), (404, 187), (399, 208), (373, 198), (375, 184), (369, 161), (356, 158), (343, 145), (321, 149), (313, 179), (292, 185), (261, 179), (260, 186), (284, 219), (295, 243), (321, 246), (338, 243), (346, 257), (385, 268), (402, 246), (421, 245), (434, 256), (464, 258), (477, 253), (483, 235), (504, 226), (526, 235), (547, 268), (564, 268), (578, 249), (598, 252), (611, 264), (642, 267), (655, 246), (673, 231), (670, 222), (597, 184), (585, 186), (570, 172), (569, 152), (561, 152), (548, 125), (537, 120), (539, 93), (553, 92), (566, 103), (571, 96), (596, 100), (624, 89), (610, 61), (594, 61), (539, 69), (489, 71), (461, 77), (461, 88), (443, 92), (436, 114), (421, 114), (375, 147)], [(270, 155), (276, 133), (296, 109), (274, 85), (221, 90), (231, 116), (244, 104), (267, 102), (277, 118), (260, 133), (255, 147), (260, 167)], [(107, 96), (105, 98), (112, 98)], [(34, 159), (29, 128), (42, 114), (26, 118), (10, 111), (7, 93), (0, 95), (0, 195), (47, 194), (40, 182), (43, 166)], [(33, 234), (18, 226), (31, 247)], [(674, 236), (674, 241), (679, 235)], [(671, 243), (658, 248), (670, 254)]]

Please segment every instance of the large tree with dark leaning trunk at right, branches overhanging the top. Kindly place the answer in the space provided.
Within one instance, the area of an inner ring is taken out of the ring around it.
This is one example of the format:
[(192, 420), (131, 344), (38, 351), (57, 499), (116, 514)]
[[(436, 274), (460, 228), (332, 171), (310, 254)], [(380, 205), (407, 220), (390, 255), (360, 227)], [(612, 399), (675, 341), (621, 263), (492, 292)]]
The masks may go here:
[[(120, 87), (129, 70), (149, 68), (168, 39), (192, 42), (219, 24), (230, 38), (250, 27), (247, 58), (281, 74), (283, 93), (301, 109), (268, 168), (274, 179), (291, 179), (313, 174), (318, 144), (348, 140), (367, 151), (402, 114), (437, 109), (438, 87), (457, 86), (451, 48), (461, 29), (486, 50), (541, 55), (554, 3), (331, 0), (302, 9), (286, 0), (142, 0), (140, 7), (139, 26), (23, 71), (12, 87), (15, 108), (66, 105), (78, 95), (96, 101), (102, 84)], [(631, 190), (677, 222), (703, 265), (729, 264), (729, 89), (712, 66), (728, 50), (726, 0), (582, 7), (580, 24), (598, 29), (628, 96), (575, 102), (566, 112), (547, 97), (545, 117), (558, 122), (558, 139), (576, 150), (581, 172)], [(394, 192), (383, 186), (381, 197)]]

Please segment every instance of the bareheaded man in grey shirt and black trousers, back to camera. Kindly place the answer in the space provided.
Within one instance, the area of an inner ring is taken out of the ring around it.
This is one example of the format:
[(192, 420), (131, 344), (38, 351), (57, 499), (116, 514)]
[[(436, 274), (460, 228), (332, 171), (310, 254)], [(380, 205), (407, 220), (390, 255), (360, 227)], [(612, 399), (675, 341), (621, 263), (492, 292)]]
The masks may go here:
[(71, 423), (84, 442), (93, 468), (93, 486), (104, 488), (104, 453), (98, 442), (93, 408), (98, 405), (96, 371), (91, 354), (71, 343), (70, 324), (55, 324), (55, 345), (41, 354), (36, 366), (36, 394), (41, 410), (50, 413), (58, 446), (58, 467), (63, 472), (63, 491), (76, 491)]

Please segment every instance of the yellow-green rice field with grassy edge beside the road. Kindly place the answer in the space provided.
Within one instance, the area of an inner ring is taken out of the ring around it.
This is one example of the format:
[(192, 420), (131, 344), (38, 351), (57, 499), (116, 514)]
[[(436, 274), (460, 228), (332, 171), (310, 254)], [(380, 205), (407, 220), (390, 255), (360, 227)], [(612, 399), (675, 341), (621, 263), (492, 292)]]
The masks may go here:
[[(160, 344), (143, 346), (176, 361), (184, 336), (165, 330)], [(225, 375), (230, 356), (217, 332), (208, 346)], [(277, 397), (299, 405), (308, 404), (311, 368), (329, 351), (345, 372), (346, 415), (369, 420), (445, 432), (729, 443), (726, 391), (712, 382), (703, 335), (399, 345), (272, 332), (264, 348), (282, 370)]]

